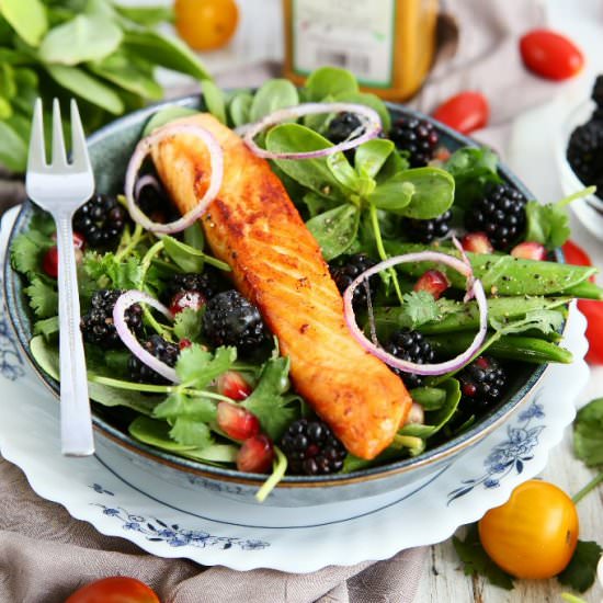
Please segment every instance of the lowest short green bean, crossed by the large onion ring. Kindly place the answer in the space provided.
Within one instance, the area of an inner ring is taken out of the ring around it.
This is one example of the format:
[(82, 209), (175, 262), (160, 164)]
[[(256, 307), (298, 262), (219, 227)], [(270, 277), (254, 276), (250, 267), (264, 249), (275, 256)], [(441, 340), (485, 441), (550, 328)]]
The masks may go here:
[[(473, 332), (457, 332), (430, 335), (425, 339), (439, 355), (452, 356), (465, 351), (474, 337)], [(546, 362), (569, 364), (572, 361), (571, 352), (565, 348), (559, 348), (559, 345), (539, 338), (524, 335), (502, 335), (488, 348), (488, 353), (500, 359), (535, 364)]]

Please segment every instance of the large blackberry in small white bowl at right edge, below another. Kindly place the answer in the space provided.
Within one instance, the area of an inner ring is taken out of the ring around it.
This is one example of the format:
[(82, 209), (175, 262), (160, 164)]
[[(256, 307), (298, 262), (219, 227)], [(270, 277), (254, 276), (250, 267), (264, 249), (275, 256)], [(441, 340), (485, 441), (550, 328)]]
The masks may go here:
[(603, 121), (587, 122), (571, 133), (567, 158), (571, 169), (583, 184), (594, 184), (598, 179), (602, 179)]

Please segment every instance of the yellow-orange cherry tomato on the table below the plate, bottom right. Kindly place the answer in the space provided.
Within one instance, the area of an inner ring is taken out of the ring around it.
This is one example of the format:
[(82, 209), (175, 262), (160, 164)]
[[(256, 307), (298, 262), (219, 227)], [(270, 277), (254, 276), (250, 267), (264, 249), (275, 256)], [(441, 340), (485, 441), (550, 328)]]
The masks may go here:
[(489, 557), (515, 578), (551, 578), (569, 564), (578, 543), (578, 513), (557, 486), (532, 479), (478, 523)]

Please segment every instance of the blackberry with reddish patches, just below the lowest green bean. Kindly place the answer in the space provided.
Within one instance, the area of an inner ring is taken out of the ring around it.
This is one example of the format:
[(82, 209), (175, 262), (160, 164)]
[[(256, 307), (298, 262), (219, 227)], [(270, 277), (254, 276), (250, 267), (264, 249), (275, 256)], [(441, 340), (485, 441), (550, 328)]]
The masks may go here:
[(458, 373), (462, 405), (473, 412), (492, 406), (502, 398), (507, 374), (491, 356), (478, 356)]

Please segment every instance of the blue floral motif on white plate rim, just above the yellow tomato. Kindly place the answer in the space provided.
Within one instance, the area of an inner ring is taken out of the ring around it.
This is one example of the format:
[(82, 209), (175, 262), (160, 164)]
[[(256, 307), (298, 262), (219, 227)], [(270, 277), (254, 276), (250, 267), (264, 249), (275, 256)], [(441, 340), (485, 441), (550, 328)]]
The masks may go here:
[(545, 418), (543, 405), (538, 403), (536, 395), (532, 403), (519, 416), (519, 421), (508, 425), (504, 442), (492, 448), (483, 460), (486, 471), (478, 478), (465, 479), (459, 488), (448, 492), (448, 502), (468, 494), (474, 488), (483, 485), (485, 488), (498, 488), (501, 479), (516, 471), (521, 474), (525, 463), (534, 458), (533, 451), (538, 445), (538, 436), (545, 429), (543, 424), (534, 425), (538, 419)]

